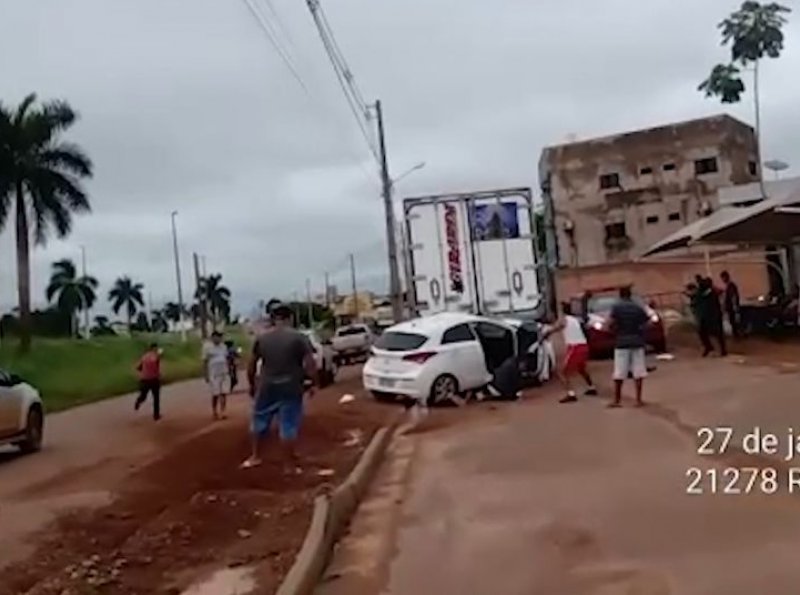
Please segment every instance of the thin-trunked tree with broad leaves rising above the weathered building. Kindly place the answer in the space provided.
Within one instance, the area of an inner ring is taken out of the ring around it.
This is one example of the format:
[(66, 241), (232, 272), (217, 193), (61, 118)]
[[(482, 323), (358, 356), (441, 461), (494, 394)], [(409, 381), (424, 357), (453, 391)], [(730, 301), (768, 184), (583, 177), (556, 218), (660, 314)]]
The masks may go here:
[(756, 111), (756, 151), (761, 179), (761, 112), (759, 108), (758, 67), (764, 58), (778, 58), (783, 51), (783, 26), (785, 15), (791, 9), (776, 2), (761, 4), (747, 1), (739, 10), (719, 23), (722, 45), (730, 45), (728, 64), (717, 64), (711, 74), (700, 83), (699, 91), (706, 97), (719, 97), (722, 103), (738, 103), (745, 91), (742, 69), (753, 66), (753, 96)]

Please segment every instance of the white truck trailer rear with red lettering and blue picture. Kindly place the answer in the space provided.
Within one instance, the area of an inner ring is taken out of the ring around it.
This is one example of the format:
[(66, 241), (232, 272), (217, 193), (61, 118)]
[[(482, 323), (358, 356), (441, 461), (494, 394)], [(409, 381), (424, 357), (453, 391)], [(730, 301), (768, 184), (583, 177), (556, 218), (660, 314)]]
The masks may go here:
[(540, 318), (552, 276), (537, 250), (529, 188), (406, 198), (406, 277), (418, 316)]

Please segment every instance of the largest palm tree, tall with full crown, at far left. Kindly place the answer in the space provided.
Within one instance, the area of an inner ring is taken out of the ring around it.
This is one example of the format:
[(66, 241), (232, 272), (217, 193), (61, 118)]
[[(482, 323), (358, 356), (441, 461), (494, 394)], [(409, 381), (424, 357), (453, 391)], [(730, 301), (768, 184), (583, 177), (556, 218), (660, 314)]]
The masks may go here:
[(35, 104), (34, 94), (16, 109), (0, 103), (0, 231), (13, 208), (22, 351), (31, 343), (31, 229), (37, 244), (51, 231), (67, 236), (72, 214), (90, 210), (81, 180), (92, 175), (83, 150), (61, 139), (77, 120), (69, 104)]

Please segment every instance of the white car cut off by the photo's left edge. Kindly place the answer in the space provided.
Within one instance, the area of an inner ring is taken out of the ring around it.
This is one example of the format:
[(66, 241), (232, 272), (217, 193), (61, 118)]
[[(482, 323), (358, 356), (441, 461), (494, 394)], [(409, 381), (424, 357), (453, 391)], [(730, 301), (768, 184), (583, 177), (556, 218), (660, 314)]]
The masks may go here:
[(44, 405), (39, 391), (15, 374), (0, 370), (0, 445), (36, 452), (44, 436)]

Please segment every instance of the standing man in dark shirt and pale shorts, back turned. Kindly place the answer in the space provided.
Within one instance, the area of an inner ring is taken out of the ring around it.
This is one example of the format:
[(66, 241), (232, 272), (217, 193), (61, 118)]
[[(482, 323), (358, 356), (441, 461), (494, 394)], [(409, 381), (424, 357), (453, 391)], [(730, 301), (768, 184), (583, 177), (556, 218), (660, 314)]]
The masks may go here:
[(645, 309), (633, 301), (631, 288), (619, 291), (619, 301), (611, 308), (611, 327), (616, 334), (614, 348), (614, 401), (609, 407), (622, 405), (622, 384), (633, 377), (636, 385), (636, 406), (644, 405), (642, 387), (647, 377), (645, 358), (645, 327), (648, 317)]

